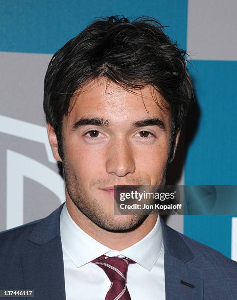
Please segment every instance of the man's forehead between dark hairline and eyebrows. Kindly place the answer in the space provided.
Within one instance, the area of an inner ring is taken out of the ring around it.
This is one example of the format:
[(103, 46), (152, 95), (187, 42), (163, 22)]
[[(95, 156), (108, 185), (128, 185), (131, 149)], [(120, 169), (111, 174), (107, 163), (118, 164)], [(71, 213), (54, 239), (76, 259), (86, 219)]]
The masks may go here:
[(75, 93), (69, 118), (72, 122), (84, 116), (103, 116), (111, 123), (132, 122), (146, 117), (160, 117), (169, 122), (161, 95), (151, 86), (125, 89), (105, 78), (95, 79)]

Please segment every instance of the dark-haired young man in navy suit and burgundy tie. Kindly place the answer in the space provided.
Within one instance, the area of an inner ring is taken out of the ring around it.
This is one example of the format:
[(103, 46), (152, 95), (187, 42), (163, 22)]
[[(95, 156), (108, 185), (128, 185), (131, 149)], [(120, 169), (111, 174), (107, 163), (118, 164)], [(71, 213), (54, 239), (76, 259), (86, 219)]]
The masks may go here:
[(236, 299), (236, 262), (155, 214), (114, 214), (114, 185), (165, 184), (193, 97), (185, 54), (157, 21), (114, 16), (55, 53), (44, 110), (66, 203), (0, 234), (0, 289), (37, 300)]

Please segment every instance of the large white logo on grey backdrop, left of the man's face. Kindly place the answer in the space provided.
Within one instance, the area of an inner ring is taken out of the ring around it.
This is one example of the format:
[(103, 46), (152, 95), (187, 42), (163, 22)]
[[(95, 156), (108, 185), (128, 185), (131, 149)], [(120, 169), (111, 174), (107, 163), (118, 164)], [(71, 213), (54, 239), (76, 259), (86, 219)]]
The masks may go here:
[[(30, 124), (0, 115), (0, 131), (16, 137), (43, 143), (49, 162), (56, 163), (47, 138), (47, 130), (40, 125)], [(63, 179), (42, 163), (21, 153), (7, 150), (6, 228), (23, 225), (24, 177), (30, 178), (65, 201)]]

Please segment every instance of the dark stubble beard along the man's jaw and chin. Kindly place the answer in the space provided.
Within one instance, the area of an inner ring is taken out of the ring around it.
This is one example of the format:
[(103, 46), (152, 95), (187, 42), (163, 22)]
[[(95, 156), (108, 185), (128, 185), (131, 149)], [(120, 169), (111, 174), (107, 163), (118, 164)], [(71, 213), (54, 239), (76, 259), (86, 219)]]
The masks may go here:
[[(161, 184), (165, 184), (166, 169), (167, 165)], [(78, 179), (65, 159), (63, 160), (63, 173), (68, 194), (74, 205), (82, 214), (100, 228), (110, 232), (128, 232), (139, 227), (149, 216), (142, 213), (130, 215), (130, 218), (127, 218), (126, 222), (119, 222), (115, 220), (114, 215), (106, 213), (104, 207), (100, 205), (96, 199), (90, 199), (85, 189), (83, 189), (83, 185), (81, 184), (82, 180)]]

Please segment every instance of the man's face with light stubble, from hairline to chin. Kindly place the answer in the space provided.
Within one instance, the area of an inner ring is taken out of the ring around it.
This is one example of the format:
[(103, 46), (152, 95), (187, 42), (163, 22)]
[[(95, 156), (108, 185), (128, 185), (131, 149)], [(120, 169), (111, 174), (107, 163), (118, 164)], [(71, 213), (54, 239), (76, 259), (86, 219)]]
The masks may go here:
[(85, 85), (63, 120), (67, 200), (104, 229), (140, 225), (147, 216), (114, 215), (113, 188), (164, 184), (169, 134), (170, 117), (151, 87), (127, 91), (106, 79)]

